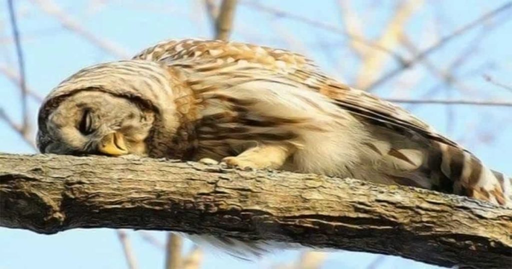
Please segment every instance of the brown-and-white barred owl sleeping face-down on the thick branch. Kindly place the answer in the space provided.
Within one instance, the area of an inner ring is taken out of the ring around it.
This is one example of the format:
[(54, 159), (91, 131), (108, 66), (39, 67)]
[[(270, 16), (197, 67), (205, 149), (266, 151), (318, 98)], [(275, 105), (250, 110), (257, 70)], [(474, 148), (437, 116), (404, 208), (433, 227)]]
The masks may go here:
[(352, 177), (512, 202), (511, 180), (408, 111), (252, 44), (165, 41), (62, 81), (42, 153), (137, 154)]

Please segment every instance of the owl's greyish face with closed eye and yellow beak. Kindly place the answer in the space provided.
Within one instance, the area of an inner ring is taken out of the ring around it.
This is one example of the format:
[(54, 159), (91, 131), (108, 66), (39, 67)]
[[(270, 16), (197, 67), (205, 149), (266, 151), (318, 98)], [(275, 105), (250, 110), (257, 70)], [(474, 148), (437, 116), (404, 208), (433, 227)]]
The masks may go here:
[(78, 92), (62, 101), (46, 119), (51, 143), (44, 153), (146, 154), (145, 139), (154, 114), (134, 101), (96, 91)]

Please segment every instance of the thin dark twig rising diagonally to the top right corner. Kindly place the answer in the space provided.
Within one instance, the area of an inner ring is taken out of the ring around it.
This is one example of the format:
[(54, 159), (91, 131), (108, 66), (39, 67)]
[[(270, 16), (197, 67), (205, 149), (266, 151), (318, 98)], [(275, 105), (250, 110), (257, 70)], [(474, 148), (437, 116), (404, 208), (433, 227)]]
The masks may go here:
[(462, 35), (462, 34), (466, 33), (467, 31), (469, 31), (469, 30), (471, 30), (471, 29), (473, 29), (473, 28), (475, 28), (477, 26), (480, 26), (482, 23), (484, 23), (484, 21), (486, 21), (486, 20), (488, 20), (488, 19), (498, 15), (499, 13), (501, 13), (501, 12), (507, 10), (507, 9), (510, 9), (511, 7), (512, 7), (512, 2), (507, 2), (503, 6), (497, 8), (497, 9), (495, 9), (493, 11), (490, 11), (488, 13), (485, 13), (484, 15), (480, 16), (479, 18), (477, 18), (477, 19), (471, 21), (470, 23), (468, 23), (468, 24), (458, 28), (457, 30), (455, 30), (451, 34), (449, 34), (449, 35), (439, 39), (439, 41), (437, 41), (435, 44), (433, 44), (428, 49), (418, 53), (413, 59), (404, 62), (404, 64), (401, 64), (400, 66), (398, 66), (394, 70), (391, 70), (387, 74), (385, 74), (382, 77), (380, 77), (378, 80), (376, 80), (371, 85), (369, 85), (366, 88), (366, 90), (367, 91), (371, 91), (372, 89), (375, 89), (377, 86), (379, 86), (380, 84), (382, 84), (382, 83), (388, 81), (389, 79), (395, 77), (396, 75), (401, 73), (403, 70), (411, 68), (411, 66), (413, 66), (417, 62), (421, 61), (423, 58), (425, 58), (426, 56), (430, 55), (431, 53), (437, 51), (438, 49), (443, 47), (444, 44), (446, 44), (447, 42), (449, 42), (453, 38), (455, 38), (455, 37), (457, 37), (459, 35)]

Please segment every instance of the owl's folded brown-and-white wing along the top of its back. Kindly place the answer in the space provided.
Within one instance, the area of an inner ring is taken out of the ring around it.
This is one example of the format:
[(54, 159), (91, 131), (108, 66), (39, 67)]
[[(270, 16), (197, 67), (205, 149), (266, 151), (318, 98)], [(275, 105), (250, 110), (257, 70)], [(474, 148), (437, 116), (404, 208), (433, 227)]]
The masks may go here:
[(379, 99), (364, 91), (336, 81), (318, 69), (307, 57), (281, 49), (254, 46), (239, 42), (219, 40), (169, 40), (148, 48), (134, 59), (163, 61), (172, 65), (196, 64), (226, 66), (247, 61), (260, 68), (282, 75), (328, 96), (340, 107), (361, 118), (379, 123), (393, 130), (411, 130), (418, 135), (447, 145), (457, 144), (439, 135), (428, 124), (414, 117), (409, 111)]

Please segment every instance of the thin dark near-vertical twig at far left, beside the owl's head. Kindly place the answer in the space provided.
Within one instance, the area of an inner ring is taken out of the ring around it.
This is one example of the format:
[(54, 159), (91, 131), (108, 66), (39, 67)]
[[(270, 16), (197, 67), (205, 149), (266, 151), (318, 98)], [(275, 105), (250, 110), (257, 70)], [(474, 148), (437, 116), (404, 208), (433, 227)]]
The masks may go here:
[(19, 132), (25, 137), (29, 132), (29, 116), (28, 116), (28, 106), (27, 106), (27, 85), (25, 79), (25, 60), (23, 56), (23, 48), (22, 42), (20, 40), (20, 34), (18, 30), (18, 24), (16, 21), (16, 12), (14, 11), (14, 4), (12, 0), (7, 1), (9, 6), (9, 18), (11, 20), (11, 29), (12, 35), (14, 37), (14, 43), (16, 45), (16, 57), (18, 60), (18, 73), (19, 73), (19, 88), (22, 92), (22, 126), (19, 129)]

